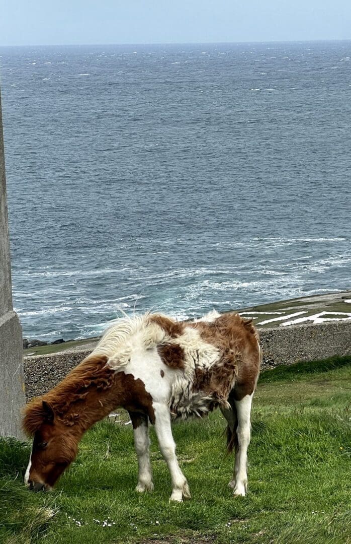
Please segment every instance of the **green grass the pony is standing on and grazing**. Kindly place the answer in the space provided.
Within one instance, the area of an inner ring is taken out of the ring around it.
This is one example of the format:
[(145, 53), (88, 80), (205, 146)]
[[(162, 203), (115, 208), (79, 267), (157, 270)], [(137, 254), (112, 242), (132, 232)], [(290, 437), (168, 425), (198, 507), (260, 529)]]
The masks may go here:
[[(130, 426), (104, 421), (53, 493), (23, 486), (30, 446), (0, 443), (0, 542), (97, 544), (351, 543), (350, 358), (263, 373), (253, 408), (249, 492), (231, 496), (233, 460), (219, 412), (174, 426), (192, 499), (168, 502), (170, 476), (152, 432), (155, 491), (134, 491)], [(269, 374), (268, 374), (269, 373)], [(94, 521), (94, 520), (98, 520)], [(108, 520), (111, 527), (102, 527)], [(80, 522), (81, 526), (79, 526)]]

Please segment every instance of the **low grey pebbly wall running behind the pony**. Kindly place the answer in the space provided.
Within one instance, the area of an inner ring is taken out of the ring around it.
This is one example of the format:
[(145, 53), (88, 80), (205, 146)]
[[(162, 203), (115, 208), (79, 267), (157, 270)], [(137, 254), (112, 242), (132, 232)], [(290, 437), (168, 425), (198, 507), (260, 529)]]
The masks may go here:
[[(314, 361), (333, 355), (351, 356), (351, 323), (293, 325), (260, 331), (263, 350), (262, 369), (277, 364)], [(24, 357), (28, 400), (49, 391), (91, 350)]]

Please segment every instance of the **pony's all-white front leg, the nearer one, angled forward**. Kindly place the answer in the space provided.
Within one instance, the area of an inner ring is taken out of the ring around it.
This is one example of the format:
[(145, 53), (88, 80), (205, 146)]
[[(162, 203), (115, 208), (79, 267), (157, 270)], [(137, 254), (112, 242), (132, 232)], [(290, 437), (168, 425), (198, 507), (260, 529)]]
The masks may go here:
[(176, 444), (173, 440), (170, 409), (166, 404), (155, 403), (155, 431), (160, 444), (161, 453), (167, 463), (172, 479), (172, 494), (170, 500), (182, 502), (190, 499), (189, 485), (181, 472), (176, 457)]

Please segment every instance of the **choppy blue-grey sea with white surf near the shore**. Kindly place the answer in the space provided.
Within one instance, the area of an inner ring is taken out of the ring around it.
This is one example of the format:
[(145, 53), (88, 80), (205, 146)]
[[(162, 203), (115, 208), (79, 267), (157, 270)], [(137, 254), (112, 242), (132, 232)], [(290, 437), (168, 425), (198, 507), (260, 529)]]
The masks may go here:
[(350, 287), (351, 42), (0, 54), (25, 336)]

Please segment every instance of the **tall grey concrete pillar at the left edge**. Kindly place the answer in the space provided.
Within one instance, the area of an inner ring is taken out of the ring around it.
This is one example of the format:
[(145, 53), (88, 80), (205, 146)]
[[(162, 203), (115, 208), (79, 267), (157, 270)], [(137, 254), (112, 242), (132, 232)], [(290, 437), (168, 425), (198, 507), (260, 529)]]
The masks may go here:
[(23, 438), (25, 403), (22, 330), (12, 308), (11, 262), (0, 95), (0, 435)]

